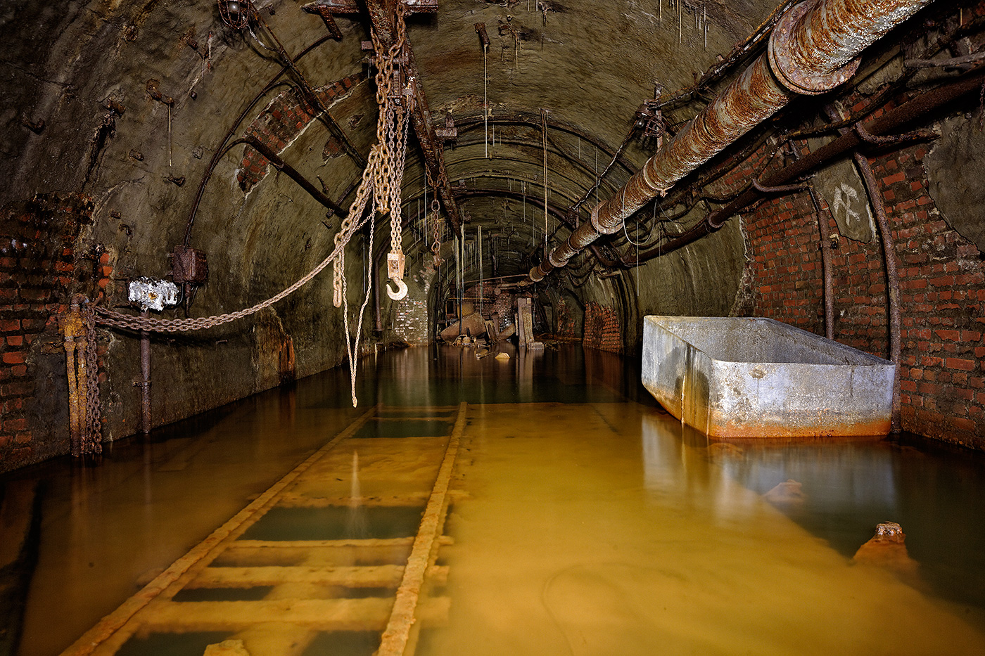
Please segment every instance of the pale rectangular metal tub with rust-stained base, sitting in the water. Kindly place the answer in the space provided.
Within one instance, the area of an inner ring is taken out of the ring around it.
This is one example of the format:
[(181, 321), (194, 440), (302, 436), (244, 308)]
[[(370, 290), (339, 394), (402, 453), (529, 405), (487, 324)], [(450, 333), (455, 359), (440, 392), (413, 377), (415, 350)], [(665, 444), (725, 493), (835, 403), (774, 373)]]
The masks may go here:
[(712, 437), (884, 435), (895, 365), (773, 319), (647, 316), (643, 386)]

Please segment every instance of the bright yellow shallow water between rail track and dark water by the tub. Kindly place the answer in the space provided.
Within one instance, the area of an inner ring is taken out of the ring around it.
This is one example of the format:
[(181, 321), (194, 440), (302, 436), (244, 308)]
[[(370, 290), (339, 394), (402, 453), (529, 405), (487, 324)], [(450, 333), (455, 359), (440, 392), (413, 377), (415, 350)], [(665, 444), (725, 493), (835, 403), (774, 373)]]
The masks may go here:
[(452, 624), (419, 653), (985, 653), (965, 609), (852, 564), (652, 408), (470, 417)]

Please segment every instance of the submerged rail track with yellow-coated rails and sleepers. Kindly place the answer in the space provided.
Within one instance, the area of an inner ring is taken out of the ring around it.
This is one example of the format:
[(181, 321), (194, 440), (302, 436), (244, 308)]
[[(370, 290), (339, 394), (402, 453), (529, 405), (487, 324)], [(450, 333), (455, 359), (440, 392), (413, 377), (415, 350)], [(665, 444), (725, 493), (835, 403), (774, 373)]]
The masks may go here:
[[(444, 623), (435, 565), (467, 404), (377, 405), (69, 647), (63, 656), (303, 654), (313, 642), (413, 654)], [(207, 502), (207, 501), (205, 501)], [(355, 636), (355, 638), (354, 638)]]

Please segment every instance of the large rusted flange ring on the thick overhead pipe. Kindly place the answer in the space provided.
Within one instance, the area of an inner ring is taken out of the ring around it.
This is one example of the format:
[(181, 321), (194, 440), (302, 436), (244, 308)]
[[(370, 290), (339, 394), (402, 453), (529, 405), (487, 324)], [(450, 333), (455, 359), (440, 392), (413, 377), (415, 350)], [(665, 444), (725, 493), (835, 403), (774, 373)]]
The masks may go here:
[[(861, 61), (861, 57), (856, 57), (833, 71), (819, 70), (820, 66), (803, 68), (797, 65), (793, 53), (803, 51), (803, 48), (802, 44), (798, 43), (799, 39), (795, 38), (794, 31), (804, 15), (816, 4), (808, 1), (791, 8), (783, 15), (769, 36), (769, 68), (773, 71), (773, 75), (787, 89), (805, 96), (818, 96), (847, 82), (855, 75)], [(809, 26), (802, 26), (800, 29), (806, 31)], [(823, 64), (824, 59), (818, 57), (815, 61)]]

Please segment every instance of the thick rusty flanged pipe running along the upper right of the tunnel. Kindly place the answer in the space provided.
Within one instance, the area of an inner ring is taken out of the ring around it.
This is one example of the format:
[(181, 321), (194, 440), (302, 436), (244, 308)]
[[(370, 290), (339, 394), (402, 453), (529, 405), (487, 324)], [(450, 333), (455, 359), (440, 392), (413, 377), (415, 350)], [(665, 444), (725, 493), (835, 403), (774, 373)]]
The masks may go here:
[(597, 205), (591, 221), (531, 269), (530, 279), (543, 280), (601, 234), (622, 230), (627, 217), (666, 194), (796, 94), (821, 94), (848, 80), (858, 68), (855, 57), (862, 50), (931, 2), (808, 0), (795, 6), (773, 29), (767, 54), (701, 110), (613, 197)]

